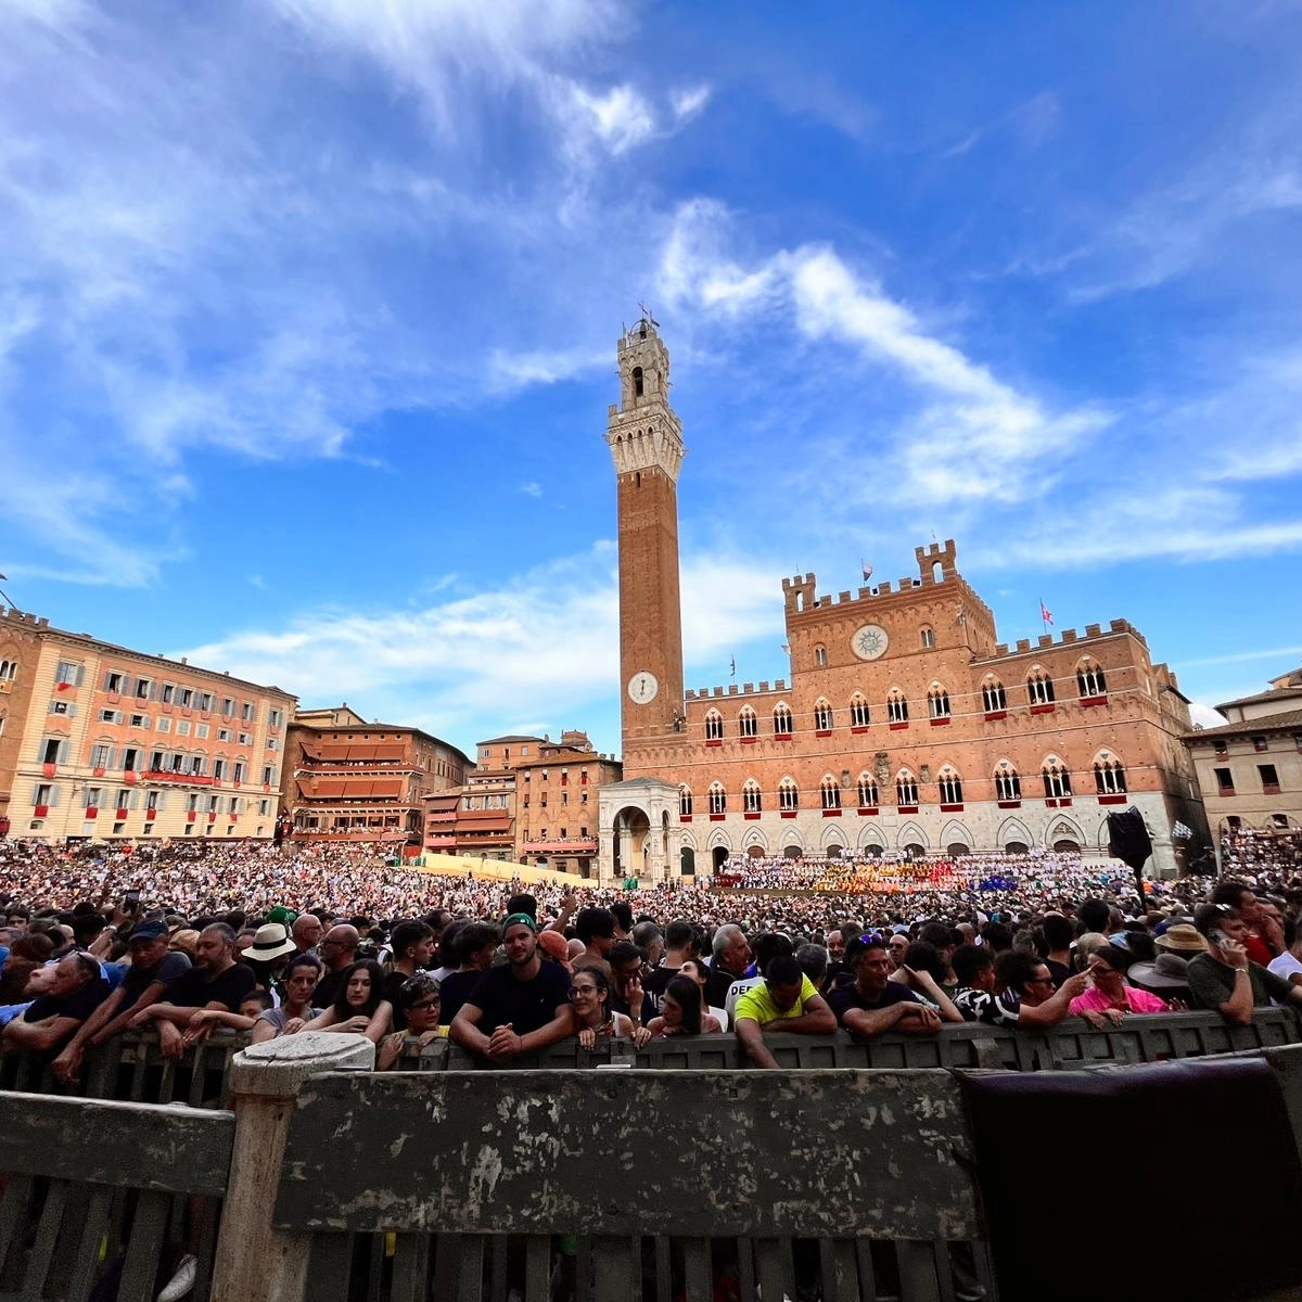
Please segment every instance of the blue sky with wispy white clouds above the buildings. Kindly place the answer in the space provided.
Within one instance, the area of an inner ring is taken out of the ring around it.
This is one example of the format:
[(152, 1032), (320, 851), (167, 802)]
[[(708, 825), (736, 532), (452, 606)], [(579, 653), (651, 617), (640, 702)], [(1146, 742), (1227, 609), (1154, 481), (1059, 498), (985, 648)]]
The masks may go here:
[(690, 686), (935, 534), (1003, 638), (1124, 616), (1206, 706), (1302, 659), (1299, 228), (1284, 0), (0, 0), (4, 587), (616, 750), (646, 299)]

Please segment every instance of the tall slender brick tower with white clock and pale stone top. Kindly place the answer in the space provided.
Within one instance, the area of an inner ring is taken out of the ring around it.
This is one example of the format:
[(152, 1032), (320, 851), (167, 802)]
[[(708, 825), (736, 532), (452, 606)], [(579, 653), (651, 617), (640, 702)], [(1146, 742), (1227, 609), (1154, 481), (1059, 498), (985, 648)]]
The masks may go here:
[(669, 353), (650, 312), (618, 348), (620, 402), (605, 441), (615, 458), (620, 518), (620, 676), (624, 754), (682, 719), (678, 602), (678, 467), (686, 450), (669, 406)]

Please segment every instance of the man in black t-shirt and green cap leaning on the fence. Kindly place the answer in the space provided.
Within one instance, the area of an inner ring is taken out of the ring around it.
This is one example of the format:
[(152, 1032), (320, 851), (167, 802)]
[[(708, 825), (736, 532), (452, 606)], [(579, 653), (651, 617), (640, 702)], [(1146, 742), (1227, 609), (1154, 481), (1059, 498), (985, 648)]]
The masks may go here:
[(538, 923), (513, 913), (503, 927), (506, 962), (479, 978), (448, 1034), (495, 1062), (534, 1053), (574, 1034), (569, 973), (538, 952)]

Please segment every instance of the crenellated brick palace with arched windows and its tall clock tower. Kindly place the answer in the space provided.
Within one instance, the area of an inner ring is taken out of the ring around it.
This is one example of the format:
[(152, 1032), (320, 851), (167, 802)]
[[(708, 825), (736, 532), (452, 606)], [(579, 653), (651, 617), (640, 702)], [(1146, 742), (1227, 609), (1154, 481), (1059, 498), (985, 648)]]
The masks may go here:
[(1176, 870), (1172, 827), (1206, 824), (1174, 673), (1128, 620), (1000, 642), (953, 540), (915, 548), (898, 583), (831, 595), (814, 574), (784, 578), (789, 677), (685, 690), (685, 448), (652, 320), (620, 340), (618, 372), (605, 441), (626, 777), (602, 790), (603, 879), (712, 872), (741, 853), (1105, 854), (1107, 815), (1130, 805), (1150, 871)]

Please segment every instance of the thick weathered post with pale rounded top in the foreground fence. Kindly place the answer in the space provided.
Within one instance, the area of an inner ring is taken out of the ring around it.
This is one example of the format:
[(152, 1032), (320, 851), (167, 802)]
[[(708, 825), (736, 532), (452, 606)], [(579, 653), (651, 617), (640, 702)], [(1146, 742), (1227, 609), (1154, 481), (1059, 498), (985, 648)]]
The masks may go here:
[(375, 1044), (362, 1035), (303, 1031), (251, 1044), (230, 1062), (234, 1155), (221, 1211), (212, 1302), (302, 1302), (310, 1234), (272, 1228), (294, 1100), (322, 1072), (371, 1070)]

